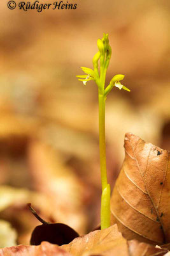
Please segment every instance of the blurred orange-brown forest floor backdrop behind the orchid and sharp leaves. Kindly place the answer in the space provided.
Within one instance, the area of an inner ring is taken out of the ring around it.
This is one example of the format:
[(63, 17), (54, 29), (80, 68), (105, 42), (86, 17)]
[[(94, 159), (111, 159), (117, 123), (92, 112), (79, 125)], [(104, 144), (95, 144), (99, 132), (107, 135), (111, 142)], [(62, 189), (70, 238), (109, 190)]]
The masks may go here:
[(41, 13), (0, 4), (0, 247), (29, 244), (39, 221), (28, 202), (80, 234), (99, 224), (97, 86), (76, 75), (92, 68), (103, 32), (113, 51), (106, 83), (124, 74), (131, 89), (106, 100), (111, 188), (125, 132), (170, 150), (169, 0), (73, 2)]

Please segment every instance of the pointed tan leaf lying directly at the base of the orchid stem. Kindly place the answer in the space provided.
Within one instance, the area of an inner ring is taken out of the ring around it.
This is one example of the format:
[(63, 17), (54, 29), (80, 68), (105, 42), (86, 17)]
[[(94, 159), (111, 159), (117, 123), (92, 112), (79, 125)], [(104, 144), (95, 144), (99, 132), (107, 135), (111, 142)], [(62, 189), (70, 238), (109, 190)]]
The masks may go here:
[(129, 255), (127, 241), (122, 237), (122, 234), (118, 232), (117, 225), (113, 225), (104, 230), (90, 232), (85, 236), (74, 239), (69, 244), (60, 246), (60, 248), (75, 256)]

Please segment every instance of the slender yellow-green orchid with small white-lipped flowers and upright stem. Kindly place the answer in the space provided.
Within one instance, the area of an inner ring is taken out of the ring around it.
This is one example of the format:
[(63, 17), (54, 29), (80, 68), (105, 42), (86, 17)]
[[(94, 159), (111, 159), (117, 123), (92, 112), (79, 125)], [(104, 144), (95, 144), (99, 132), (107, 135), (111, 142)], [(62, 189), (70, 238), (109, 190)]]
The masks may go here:
[[(110, 227), (110, 184), (108, 184), (106, 171), (106, 140), (105, 140), (105, 101), (108, 93), (115, 86), (118, 89), (124, 89), (131, 92), (127, 87), (120, 83), (124, 79), (124, 75), (114, 76), (110, 84), (105, 88), (106, 72), (111, 58), (111, 46), (109, 44), (108, 34), (103, 34), (102, 39), (97, 40), (99, 51), (94, 55), (93, 67), (81, 67), (85, 75), (77, 76), (78, 80), (86, 84), (90, 80), (94, 80), (99, 91), (99, 151), (101, 165), (101, 229)], [(100, 64), (100, 65), (99, 65)]]

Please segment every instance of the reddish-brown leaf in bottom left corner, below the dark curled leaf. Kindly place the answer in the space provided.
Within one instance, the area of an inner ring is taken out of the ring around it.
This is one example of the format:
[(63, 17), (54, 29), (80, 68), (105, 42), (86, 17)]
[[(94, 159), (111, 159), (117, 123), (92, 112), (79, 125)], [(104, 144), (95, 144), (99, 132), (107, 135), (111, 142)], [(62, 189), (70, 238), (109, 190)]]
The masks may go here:
[(0, 256), (71, 256), (55, 244), (43, 242), (39, 246), (18, 245), (0, 249)]

